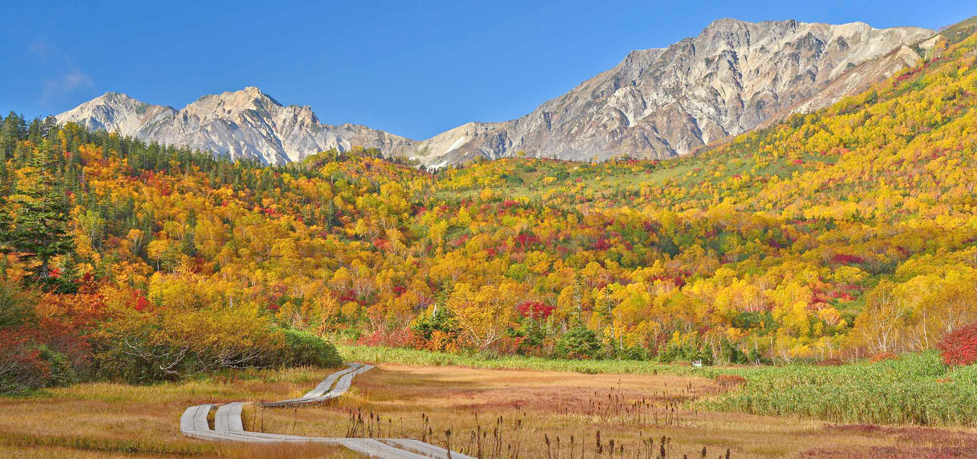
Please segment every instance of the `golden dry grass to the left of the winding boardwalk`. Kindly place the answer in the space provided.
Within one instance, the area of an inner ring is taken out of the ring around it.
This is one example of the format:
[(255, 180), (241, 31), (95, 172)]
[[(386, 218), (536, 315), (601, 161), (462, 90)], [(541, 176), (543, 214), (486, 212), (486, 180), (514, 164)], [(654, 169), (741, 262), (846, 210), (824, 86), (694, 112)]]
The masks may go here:
[(180, 415), (188, 406), (277, 399), (307, 391), (326, 372), (248, 371), (154, 386), (79, 384), (29, 398), (0, 398), (0, 457), (359, 457), (333, 446), (219, 444), (180, 434)]

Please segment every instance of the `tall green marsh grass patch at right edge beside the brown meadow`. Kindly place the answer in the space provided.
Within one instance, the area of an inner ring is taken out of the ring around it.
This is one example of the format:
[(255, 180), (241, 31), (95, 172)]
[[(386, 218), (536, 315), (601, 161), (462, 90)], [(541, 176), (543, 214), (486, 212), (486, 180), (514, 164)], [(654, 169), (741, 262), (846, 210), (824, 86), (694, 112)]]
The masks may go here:
[(706, 400), (703, 409), (845, 423), (977, 427), (977, 365), (950, 368), (936, 353), (736, 371), (745, 380), (742, 390)]

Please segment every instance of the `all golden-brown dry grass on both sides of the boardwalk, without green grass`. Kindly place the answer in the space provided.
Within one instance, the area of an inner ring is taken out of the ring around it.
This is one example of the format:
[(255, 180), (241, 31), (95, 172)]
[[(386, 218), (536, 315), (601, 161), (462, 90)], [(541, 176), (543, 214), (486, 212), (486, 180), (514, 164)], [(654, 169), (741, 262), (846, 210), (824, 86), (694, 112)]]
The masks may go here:
[[(179, 433), (178, 420), (187, 406), (301, 396), (327, 373), (252, 371), (202, 382), (143, 387), (82, 384), (42, 396), (0, 398), (0, 457), (358, 457), (337, 447), (220, 444)], [(914, 439), (907, 440), (898, 429), (832, 429), (817, 420), (687, 408), (686, 401), (713, 396), (719, 390), (711, 380), (700, 377), (383, 364), (358, 376), (346, 396), (318, 406), (248, 406), (245, 427), (345, 437), (353, 428), (352, 411), (363, 419), (362, 424), (356, 423), (356, 436), (423, 438), (445, 445), (445, 431), (451, 429), (452, 449), (474, 453), (478, 445), (472, 433), (479, 431), (485, 458), (506, 457), (510, 450), (509, 457), (516, 457), (518, 448), (518, 457), (527, 459), (580, 458), (581, 447), (586, 458), (595, 457), (598, 431), (602, 456), (608, 456), (608, 442), (614, 439), (616, 457), (621, 459), (637, 457), (639, 450), (647, 448), (641, 441), (648, 438), (655, 439), (657, 453), (662, 436), (670, 438), (667, 449), (675, 459), (683, 454), (698, 459), (703, 446), (710, 458), (725, 454), (726, 448), (735, 459), (835, 457), (832, 451), (864, 451), (837, 457), (868, 458), (877, 448), (927, 441), (927, 431), (914, 432), (910, 437)], [(499, 417), (500, 425), (496, 424)], [(954, 432), (962, 436), (977, 433)], [(571, 436), (573, 456), (569, 452)], [(550, 439), (549, 456), (544, 438)]]

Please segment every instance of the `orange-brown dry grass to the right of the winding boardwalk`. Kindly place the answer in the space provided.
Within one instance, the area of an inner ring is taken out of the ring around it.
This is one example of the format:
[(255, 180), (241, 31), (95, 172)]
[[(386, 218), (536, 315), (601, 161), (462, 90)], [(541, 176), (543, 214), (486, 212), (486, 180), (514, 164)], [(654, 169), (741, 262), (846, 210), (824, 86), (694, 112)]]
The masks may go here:
[[(686, 408), (684, 401), (719, 390), (711, 380), (699, 377), (384, 364), (358, 376), (350, 394), (327, 404), (248, 408), (245, 426), (260, 430), (264, 424), (266, 432), (343, 437), (352, 429), (353, 410), (358, 419), (363, 418), (361, 425), (357, 423), (357, 435), (362, 437), (426, 438), (444, 446), (445, 431), (451, 429), (453, 449), (475, 455), (478, 445), (472, 434), (481, 430), (484, 457), (514, 457), (515, 452), (509, 451), (518, 443), (519, 457), (561, 459), (572, 457), (571, 436), (574, 458), (581, 457), (581, 440), (585, 457), (595, 457), (598, 431), (603, 455), (608, 454), (608, 441), (615, 439), (616, 448), (624, 446), (623, 456), (616, 451), (622, 458), (639, 457), (636, 453), (647, 451), (647, 443), (642, 443), (647, 438), (655, 438), (657, 455), (662, 436), (670, 438), (667, 449), (672, 458), (683, 454), (699, 458), (703, 446), (707, 457), (725, 455), (730, 448), (732, 458), (752, 459), (798, 457), (818, 448), (892, 446), (898, 441), (895, 435), (826, 429), (828, 423), (818, 420)], [(427, 423), (422, 415), (429, 419)], [(496, 425), (499, 417), (501, 426)], [(517, 429), (520, 420), (523, 428)], [(493, 439), (496, 427), (501, 431), (498, 440)], [(545, 438), (550, 439), (549, 455)], [(496, 456), (493, 449), (500, 453)], [(642, 453), (640, 457), (646, 456)]]

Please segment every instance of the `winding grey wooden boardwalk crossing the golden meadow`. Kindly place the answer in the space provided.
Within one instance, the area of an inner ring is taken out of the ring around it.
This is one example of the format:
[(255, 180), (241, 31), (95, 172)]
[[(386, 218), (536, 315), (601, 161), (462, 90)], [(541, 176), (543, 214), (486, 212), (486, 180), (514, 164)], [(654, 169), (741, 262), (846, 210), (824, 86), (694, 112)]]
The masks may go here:
[[(373, 365), (361, 363), (347, 363), (346, 368), (326, 376), (325, 379), (304, 396), (287, 400), (265, 402), (265, 406), (292, 406), (304, 403), (316, 403), (337, 396), (342, 396), (350, 390), (353, 378), (373, 369)], [(241, 408), (247, 402), (235, 401), (217, 407), (214, 414), (214, 428), (210, 428), (207, 416), (214, 408), (213, 404), (200, 404), (187, 408), (180, 417), (180, 432), (191, 438), (242, 441), (248, 443), (280, 443), (306, 442), (327, 443), (344, 446), (363, 456), (378, 459), (475, 459), (471, 456), (425, 443), (413, 438), (328, 438), (328, 437), (300, 437), (281, 434), (264, 434), (244, 430), (241, 422)]]

